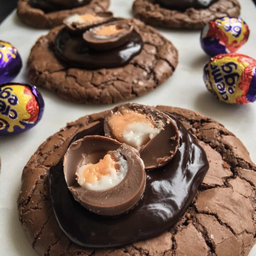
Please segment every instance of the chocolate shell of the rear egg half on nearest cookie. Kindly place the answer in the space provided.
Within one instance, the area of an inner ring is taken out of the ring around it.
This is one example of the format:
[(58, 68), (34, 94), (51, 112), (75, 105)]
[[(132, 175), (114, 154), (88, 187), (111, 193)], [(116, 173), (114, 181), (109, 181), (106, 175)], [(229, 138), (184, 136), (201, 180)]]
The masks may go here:
[[(144, 114), (153, 123), (155, 128), (160, 128), (159, 134), (154, 138), (142, 145), (138, 150), (140, 153), (140, 158), (143, 160), (145, 169), (150, 170), (160, 166), (166, 165), (176, 154), (179, 146), (179, 133), (178, 128), (171, 118), (153, 107), (145, 106), (142, 104), (127, 102), (118, 105), (106, 116), (104, 122), (104, 130), (106, 137), (116, 138), (111, 131), (108, 124), (108, 120), (115, 113), (120, 113), (125, 110), (131, 110), (136, 113)], [(159, 146), (161, 145), (161, 146)], [(155, 149), (158, 150), (155, 150)]]

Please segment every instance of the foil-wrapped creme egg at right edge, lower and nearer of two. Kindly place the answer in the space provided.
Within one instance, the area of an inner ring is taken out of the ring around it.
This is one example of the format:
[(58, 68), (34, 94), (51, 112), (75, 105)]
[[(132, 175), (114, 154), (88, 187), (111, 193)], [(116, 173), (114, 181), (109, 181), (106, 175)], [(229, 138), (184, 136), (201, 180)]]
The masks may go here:
[(256, 60), (242, 54), (219, 54), (204, 66), (204, 83), (220, 101), (245, 104), (256, 100)]

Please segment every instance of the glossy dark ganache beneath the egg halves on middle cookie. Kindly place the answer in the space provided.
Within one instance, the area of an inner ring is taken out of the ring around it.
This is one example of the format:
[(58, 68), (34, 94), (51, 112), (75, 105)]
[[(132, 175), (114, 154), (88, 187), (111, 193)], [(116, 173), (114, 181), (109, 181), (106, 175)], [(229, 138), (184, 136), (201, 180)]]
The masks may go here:
[(55, 40), (55, 54), (68, 66), (85, 69), (116, 68), (124, 66), (143, 48), (141, 36), (133, 30), (129, 41), (118, 48), (96, 51), (87, 46), (81, 35), (63, 28)]

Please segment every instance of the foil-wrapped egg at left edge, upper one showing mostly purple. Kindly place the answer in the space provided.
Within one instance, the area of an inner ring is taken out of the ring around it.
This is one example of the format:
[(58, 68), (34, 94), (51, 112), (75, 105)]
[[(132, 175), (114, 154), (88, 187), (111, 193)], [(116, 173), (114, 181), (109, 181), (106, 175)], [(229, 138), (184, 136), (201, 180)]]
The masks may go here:
[(0, 41), (0, 84), (14, 79), (21, 67), (22, 60), (17, 49), (8, 42)]

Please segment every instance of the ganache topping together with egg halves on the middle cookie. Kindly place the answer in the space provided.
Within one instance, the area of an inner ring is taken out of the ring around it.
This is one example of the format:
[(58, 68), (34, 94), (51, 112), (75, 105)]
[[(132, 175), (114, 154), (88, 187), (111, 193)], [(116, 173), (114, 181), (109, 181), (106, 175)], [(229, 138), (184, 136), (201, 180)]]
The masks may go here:
[(65, 20), (66, 27), (55, 40), (55, 54), (68, 65), (84, 69), (121, 67), (142, 50), (140, 34), (125, 19), (113, 18), (105, 23), (110, 21), (108, 15), (103, 19), (103, 14), (90, 15), (84, 21), (82, 16), (85, 15), (73, 16), (79, 26), (71, 25), (72, 19), (68, 24)]

